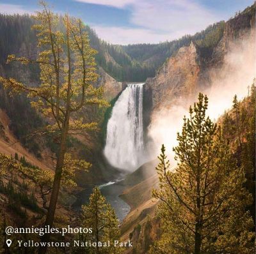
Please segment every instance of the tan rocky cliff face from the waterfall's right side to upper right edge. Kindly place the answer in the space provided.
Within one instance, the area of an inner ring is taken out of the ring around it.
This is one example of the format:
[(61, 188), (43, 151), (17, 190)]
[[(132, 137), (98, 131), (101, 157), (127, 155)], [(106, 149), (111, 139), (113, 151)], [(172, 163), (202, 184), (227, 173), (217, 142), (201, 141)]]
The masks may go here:
[[(178, 101), (185, 106), (198, 91), (210, 87), (211, 73), (222, 68), (227, 53), (239, 41), (255, 36), (255, 6), (225, 23), (223, 36), (213, 48), (203, 48), (191, 41), (180, 48), (145, 84), (145, 117), (152, 117), (161, 108), (170, 108)], [(147, 112), (150, 111), (150, 114)], [(150, 119), (146, 119), (150, 123)]]

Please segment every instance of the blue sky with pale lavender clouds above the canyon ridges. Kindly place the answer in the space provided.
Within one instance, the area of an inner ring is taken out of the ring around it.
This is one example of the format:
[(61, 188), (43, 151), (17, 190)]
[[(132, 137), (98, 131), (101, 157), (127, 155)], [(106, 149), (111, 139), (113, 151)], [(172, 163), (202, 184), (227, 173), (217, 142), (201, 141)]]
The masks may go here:
[[(81, 18), (109, 43), (158, 43), (195, 34), (254, 0), (48, 0), (58, 13)], [(33, 13), (37, 0), (0, 0), (0, 12)]]

